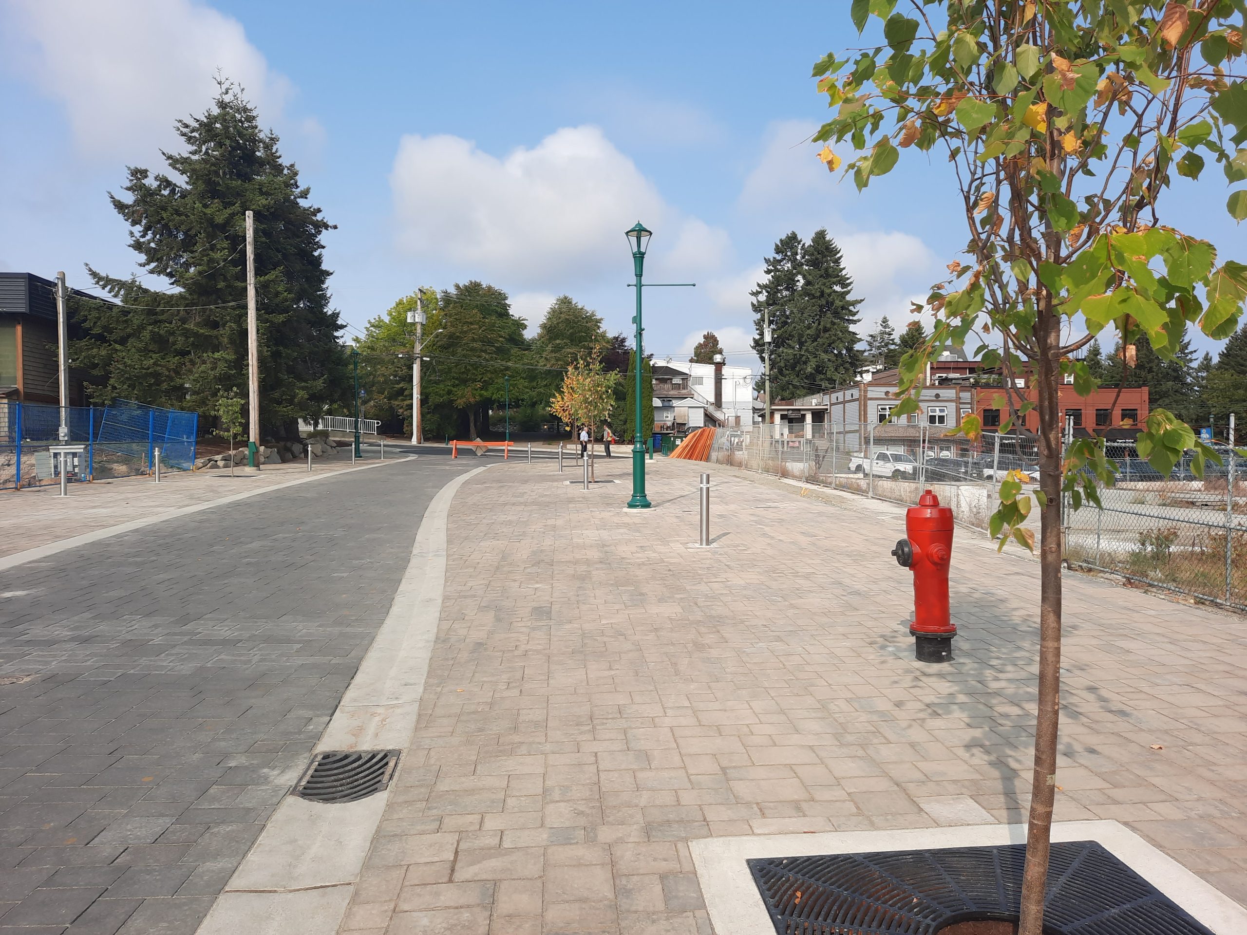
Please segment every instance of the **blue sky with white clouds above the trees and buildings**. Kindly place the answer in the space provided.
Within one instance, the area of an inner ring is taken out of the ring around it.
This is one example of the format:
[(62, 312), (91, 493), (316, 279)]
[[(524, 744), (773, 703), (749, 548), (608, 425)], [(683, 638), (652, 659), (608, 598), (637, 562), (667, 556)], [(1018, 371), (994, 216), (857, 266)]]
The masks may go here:
[[(107, 193), (126, 166), (162, 168), (219, 70), (337, 224), (325, 264), (348, 338), (416, 287), (468, 279), (505, 289), (530, 333), (566, 293), (631, 334), (638, 219), (646, 279), (696, 283), (645, 293), (660, 359), (715, 330), (728, 363), (757, 368), (762, 261), (819, 227), (858, 330), (880, 315), (899, 330), (965, 222), (938, 156), (909, 151), (862, 193), (817, 160), (811, 67), (858, 42), (848, 6), (0, 0), (0, 269), (79, 287), (86, 266), (142, 272)], [(1175, 194), (1175, 223), (1245, 258), (1217, 182)]]

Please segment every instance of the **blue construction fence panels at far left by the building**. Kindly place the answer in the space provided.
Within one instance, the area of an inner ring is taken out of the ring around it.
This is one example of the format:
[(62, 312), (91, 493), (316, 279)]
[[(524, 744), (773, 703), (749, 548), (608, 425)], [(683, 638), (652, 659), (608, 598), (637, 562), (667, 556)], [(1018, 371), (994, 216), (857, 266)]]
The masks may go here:
[(191, 470), (198, 413), (118, 399), (106, 406), (66, 406), (69, 439), (61, 441), (61, 408), (44, 403), (0, 403), (0, 490), (60, 482), (52, 445), (84, 445), (71, 455), (69, 480), (148, 474), (160, 451), (161, 470)]

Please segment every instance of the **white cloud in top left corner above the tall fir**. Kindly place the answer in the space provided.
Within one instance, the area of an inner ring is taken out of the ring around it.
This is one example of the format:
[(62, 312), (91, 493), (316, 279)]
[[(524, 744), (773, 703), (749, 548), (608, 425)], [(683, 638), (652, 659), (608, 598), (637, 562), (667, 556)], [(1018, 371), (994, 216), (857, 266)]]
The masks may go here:
[(242, 24), (196, 0), (0, 0), (4, 57), (60, 101), (81, 153), (150, 160), (219, 70), (272, 118), (289, 95)]

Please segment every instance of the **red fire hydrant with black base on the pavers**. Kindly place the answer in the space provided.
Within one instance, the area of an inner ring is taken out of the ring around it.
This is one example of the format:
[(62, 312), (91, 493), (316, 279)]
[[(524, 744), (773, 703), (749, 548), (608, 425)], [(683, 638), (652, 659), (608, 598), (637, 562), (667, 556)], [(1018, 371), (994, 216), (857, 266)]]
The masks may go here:
[(905, 511), (908, 539), (897, 542), (897, 562), (914, 572), (914, 657), (919, 662), (953, 658), (953, 626), (948, 612), (948, 566), (953, 557), (953, 510), (939, 505), (930, 490)]

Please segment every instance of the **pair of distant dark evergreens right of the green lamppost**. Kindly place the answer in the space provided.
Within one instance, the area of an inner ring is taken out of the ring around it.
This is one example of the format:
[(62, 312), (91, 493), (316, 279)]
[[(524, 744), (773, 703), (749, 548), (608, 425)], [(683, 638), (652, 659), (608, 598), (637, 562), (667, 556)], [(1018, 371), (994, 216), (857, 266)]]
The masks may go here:
[(776, 244), (764, 266), (766, 280), (751, 294), (763, 352), (763, 312), (771, 315), (771, 391), (792, 399), (850, 383), (862, 368), (857, 348), (857, 307), (853, 280), (844, 272), (839, 247), (826, 229), (809, 243), (796, 233)]

